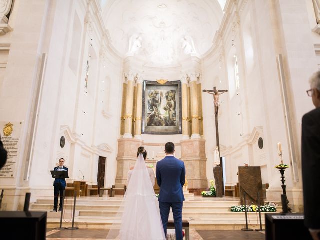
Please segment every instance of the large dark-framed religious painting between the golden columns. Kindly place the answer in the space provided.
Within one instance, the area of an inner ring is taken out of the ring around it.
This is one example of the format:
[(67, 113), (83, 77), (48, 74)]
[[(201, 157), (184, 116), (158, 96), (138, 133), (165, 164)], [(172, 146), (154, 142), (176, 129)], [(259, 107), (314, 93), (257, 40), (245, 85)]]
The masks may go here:
[(181, 82), (143, 82), (142, 134), (181, 134)]

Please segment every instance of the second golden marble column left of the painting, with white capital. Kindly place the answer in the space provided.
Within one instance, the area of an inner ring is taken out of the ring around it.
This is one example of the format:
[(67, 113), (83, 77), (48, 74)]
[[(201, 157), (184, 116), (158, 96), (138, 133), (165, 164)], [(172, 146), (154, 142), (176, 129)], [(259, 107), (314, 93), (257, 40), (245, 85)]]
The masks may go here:
[(124, 73), (125, 79), (127, 80), (127, 91), (126, 91), (126, 104), (125, 104), (125, 118), (124, 123), (124, 135), (123, 138), (132, 138), (132, 111), (133, 111), (133, 90), (134, 90), (134, 79), (135, 75), (132, 72)]

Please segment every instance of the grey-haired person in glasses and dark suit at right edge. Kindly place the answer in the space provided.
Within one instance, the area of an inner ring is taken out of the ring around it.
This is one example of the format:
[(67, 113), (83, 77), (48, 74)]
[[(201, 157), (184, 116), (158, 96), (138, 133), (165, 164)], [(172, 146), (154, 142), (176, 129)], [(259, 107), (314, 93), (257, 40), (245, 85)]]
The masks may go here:
[(302, 179), (304, 201), (304, 224), (314, 240), (320, 240), (320, 71), (310, 78), (315, 109), (302, 117)]

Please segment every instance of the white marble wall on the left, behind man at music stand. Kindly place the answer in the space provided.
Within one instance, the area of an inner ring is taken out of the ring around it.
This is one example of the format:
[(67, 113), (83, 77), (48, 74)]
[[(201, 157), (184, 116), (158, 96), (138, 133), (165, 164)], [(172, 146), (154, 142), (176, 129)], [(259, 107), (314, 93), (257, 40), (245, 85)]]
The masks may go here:
[[(92, 1), (87, 9), (84, 0), (15, 1), (10, 17), (14, 30), (0, 38), (0, 43), (11, 44), (1, 80), (0, 119), (23, 124), (16, 177), (1, 179), (1, 188), (11, 189), (13, 194), (31, 191), (32, 196), (51, 196), (49, 171), (60, 157), (70, 169), (70, 181), (79, 180), (82, 171), (88, 184), (96, 184), (98, 156), (105, 156), (105, 185), (114, 183), (121, 58), (106, 47), (108, 39), (95, 15), (100, 10), (96, 3)], [(79, 47), (72, 51), (74, 44)], [(37, 99), (42, 53), (47, 60)], [(106, 89), (111, 95), (105, 96)], [(106, 99), (110, 102), (107, 108)], [(34, 107), (37, 103), (38, 109)], [(64, 148), (59, 145), (61, 136), (66, 139)], [(4, 208), (16, 209), (19, 201), (23, 202), (23, 197), (12, 199), (4, 198)]]

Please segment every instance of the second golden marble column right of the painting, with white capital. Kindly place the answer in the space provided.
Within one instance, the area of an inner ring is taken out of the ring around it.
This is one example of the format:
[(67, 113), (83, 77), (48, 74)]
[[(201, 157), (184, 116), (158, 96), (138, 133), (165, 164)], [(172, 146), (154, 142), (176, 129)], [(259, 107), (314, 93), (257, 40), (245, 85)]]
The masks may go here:
[(199, 110), (198, 110), (198, 90), (197, 90), (197, 79), (199, 74), (192, 72), (189, 75), (191, 85), (191, 118), (192, 118), (192, 139), (200, 138), (199, 134)]

